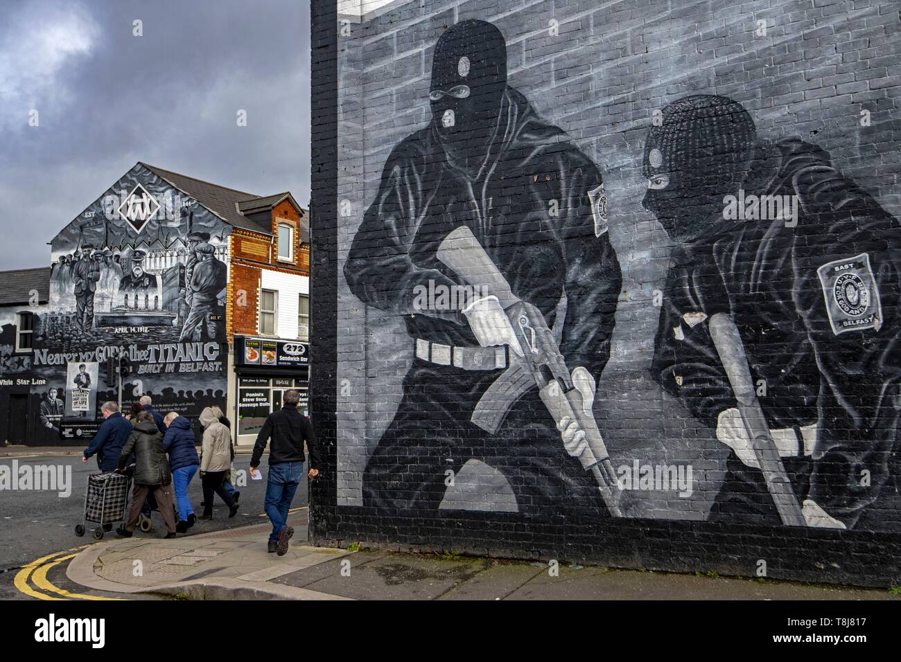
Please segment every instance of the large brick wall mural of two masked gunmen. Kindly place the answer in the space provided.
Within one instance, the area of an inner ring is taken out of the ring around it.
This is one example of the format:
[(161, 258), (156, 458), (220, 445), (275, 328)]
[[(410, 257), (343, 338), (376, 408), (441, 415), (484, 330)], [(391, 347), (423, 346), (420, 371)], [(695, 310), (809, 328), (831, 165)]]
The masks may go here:
[(316, 540), (893, 576), (899, 12), (815, 5), (314, 14)]

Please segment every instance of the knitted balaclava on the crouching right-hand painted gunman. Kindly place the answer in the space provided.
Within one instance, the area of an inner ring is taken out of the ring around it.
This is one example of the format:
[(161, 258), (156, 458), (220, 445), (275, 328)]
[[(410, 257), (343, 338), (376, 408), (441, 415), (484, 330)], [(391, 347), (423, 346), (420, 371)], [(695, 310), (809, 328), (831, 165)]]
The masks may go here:
[(652, 184), (643, 205), (677, 241), (690, 242), (722, 213), (725, 195), (741, 185), (754, 152), (757, 131), (742, 104), (724, 96), (695, 95), (663, 109), (644, 146), (642, 172)]

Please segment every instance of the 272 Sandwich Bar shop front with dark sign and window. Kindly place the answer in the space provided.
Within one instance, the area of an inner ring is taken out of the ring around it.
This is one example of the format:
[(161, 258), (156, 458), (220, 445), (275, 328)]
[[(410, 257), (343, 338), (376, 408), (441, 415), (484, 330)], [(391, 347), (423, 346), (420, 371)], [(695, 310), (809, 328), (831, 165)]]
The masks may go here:
[(236, 335), (233, 378), (239, 445), (253, 444), (287, 390), (300, 392), (298, 408), (309, 415), (309, 343)]

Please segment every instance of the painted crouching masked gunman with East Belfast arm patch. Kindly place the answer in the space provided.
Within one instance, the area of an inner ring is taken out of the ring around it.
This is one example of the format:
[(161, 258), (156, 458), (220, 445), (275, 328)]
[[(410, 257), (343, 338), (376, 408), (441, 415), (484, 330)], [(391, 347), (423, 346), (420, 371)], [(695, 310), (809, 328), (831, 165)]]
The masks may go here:
[(678, 242), (654, 373), (732, 449), (710, 518), (854, 527), (892, 481), (896, 219), (722, 96), (670, 104), (643, 168)]

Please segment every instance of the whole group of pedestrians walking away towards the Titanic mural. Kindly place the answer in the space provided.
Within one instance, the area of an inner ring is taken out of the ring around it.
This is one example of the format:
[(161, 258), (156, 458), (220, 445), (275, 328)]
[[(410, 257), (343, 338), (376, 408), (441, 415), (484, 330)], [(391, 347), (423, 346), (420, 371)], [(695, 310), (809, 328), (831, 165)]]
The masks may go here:
[[(283, 556), (294, 529), (287, 515), (297, 486), (303, 476), (305, 443), (311, 468), (307, 476), (318, 476), (319, 453), (309, 418), (300, 413), (300, 393), (285, 392), (284, 406), (269, 414), (259, 431), (250, 459), (250, 475), (256, 477), (260, 458), (271, 438), (269, 476), (264, 510), (272, 523), (268, 551)], [(204, 428), (200, 454), (192, 423), (175, 412), (165, 416), (152, 406), (150, 395), (142, 395), (123, 416), (119, 406), (108, 402), (101, 407), (104, 422), (84, 451), (82, 460), (96, 455), (101, 471), (133, 471), (134, 490), (128, 519), (116, 532), (131, 538), (141, 510), (159, 510), (166, 524), (166, 538), (186, 533), (198, 519), (213, 519), (214, 494), (229, 509), (229, 517), (238, 512), (241, 493), (232, 486), (234, 446), (231, 424), (219, 407), (206, 407), (199, 417)], [(203, 513), (198, 517), (187, 494), (197, 472), (203, 485)], [(150, 508), (145, 506), (150, 503)], [(177, 519), (176, 519), (177, 518)]]

